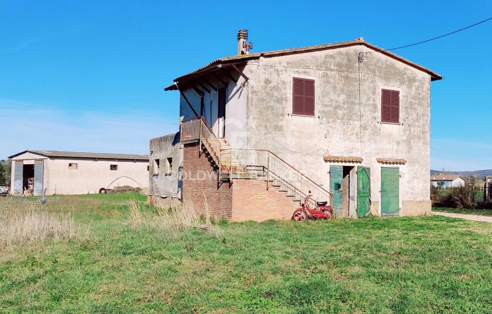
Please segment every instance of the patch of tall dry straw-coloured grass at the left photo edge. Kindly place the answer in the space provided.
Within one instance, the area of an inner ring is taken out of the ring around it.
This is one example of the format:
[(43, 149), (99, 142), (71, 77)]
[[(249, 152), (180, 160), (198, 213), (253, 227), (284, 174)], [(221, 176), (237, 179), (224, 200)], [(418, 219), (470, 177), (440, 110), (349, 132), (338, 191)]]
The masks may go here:
[(46, 240), (72, 240), (81, 228), (71, 213), (49, 212), (35, 202), (0, 199), (0, 247), (39, 243)]

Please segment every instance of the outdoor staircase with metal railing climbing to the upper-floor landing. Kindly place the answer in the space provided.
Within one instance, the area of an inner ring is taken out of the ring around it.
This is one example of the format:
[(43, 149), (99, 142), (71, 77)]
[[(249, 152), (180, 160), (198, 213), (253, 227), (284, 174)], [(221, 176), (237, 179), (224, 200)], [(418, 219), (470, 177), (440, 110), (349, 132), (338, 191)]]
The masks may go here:
[[(199, 123), (197, 124), (195, 120), (199, 120)], [(284, 202), (277, 199), (276, 195), (281, 195), (290, 204), (299, 204), (307, 194), (313, 194), (313, 204), (311, 204), (313, 206), (316, 201), (332, 203), (330, 192), (272, 152), (231, 149), (226, 139), (218, 139), (215, 136), (203, 118), (188, 120), (186, 123), (191, 126), (190, 129), (184, 129), (184, 123), (182, 123), (181, 131), (182, 142), (199, 141), (200, 151), (206, 154), (215, 171), (218, 172), (217, 180), (223, 183), (234, 181), (237, 184), (232, 185), (233, 189), (242, 187), (245, 191), (249, 190), (250, 199), (253, 197), (255, 201), (261, 203), (261, 200), (267, 197), (286, 206)], [(197, 125), (201, 128), (199, 131), (192, 129)], [(249, 186), (254, 188), (248, 188)], [(243, 194), (238, 191), (235, 193), (236, 195)]]

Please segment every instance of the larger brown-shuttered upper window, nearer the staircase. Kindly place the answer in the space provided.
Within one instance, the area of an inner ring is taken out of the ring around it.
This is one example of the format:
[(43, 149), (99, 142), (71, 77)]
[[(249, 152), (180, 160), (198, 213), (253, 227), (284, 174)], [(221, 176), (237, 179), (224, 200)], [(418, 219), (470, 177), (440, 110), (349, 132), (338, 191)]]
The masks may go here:
[(292, 114), (314, 116), (314, 80), (293, 78)]

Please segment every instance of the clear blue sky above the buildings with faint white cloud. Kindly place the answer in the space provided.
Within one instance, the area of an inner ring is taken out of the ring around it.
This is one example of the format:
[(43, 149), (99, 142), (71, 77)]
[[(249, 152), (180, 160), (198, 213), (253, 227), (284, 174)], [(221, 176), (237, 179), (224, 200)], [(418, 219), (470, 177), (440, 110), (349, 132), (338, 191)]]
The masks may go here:
[[(492, 1), (0, 1), (0, 158), (25, 149), (148, 154), (178, 129), (172, 79), (236, 53), (364, 36), (393, 48), (492, 16)], [(432, 83), (431, 167), (492, 168), (492, 21), (395, 51)]]

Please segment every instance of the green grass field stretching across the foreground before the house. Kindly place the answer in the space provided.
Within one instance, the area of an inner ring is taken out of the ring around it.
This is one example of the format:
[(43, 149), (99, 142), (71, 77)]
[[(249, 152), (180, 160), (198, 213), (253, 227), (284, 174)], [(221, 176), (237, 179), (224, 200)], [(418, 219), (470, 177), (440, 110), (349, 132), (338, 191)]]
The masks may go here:
[[(89, 234), (2, 248), (0, 313), (492, 313), (492, 227), (446, 217), (126, 226), (127, 194), (54, 196)], [(145, 211), (154, 209), (143, 206)]]

